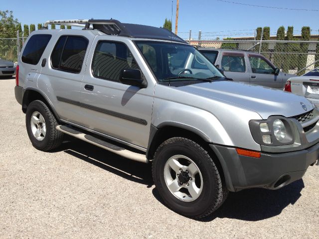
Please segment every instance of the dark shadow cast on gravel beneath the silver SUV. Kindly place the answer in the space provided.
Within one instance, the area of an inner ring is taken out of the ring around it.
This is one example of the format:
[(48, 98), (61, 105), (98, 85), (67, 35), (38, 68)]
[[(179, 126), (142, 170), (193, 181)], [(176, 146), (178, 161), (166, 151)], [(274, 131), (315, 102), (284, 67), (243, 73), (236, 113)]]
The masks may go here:
[[(64, 137), (63, 144), (56, 151), (64, 151), (127, 180), (144, 184), (148, 188), (152, 187), (151, 164), (123, 158), (69, 135)], [(199, 221), (210, 222), (215, 218), (259, 221), (271, 218), (281, 214), (288, 205), (294, 205), (304, 187), (304, 181), (300, 179), (279, 190), (257, 188), (230, 193), (215, 213)], [(154, 188), (152, 192), (154, 197), (164, 204), (157, 189)]]

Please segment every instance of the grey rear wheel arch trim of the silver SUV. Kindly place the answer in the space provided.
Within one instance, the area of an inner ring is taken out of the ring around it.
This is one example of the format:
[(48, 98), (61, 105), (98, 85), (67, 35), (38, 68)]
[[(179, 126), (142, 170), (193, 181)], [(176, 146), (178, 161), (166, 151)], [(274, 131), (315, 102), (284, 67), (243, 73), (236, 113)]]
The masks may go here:
[(50, 111), (53, 113), (53, 115), (55, 116), (55, 119), (57, 119), (57, 121), (60, 122), (60, 117), (56, 113), (56, 111), (54, 110), (54, 107), (53, 107), (51, 101), (48, 99), (48, 97), (44, 93), (42, 93), (40, 90), (34, 89), (34, 88), (25, 89), (25, 92), (23, 94), (22, 112), (24, 114), (26, 113), (26, 109), (27, 109), (28, 105), (32, 101), (35, 101), (35, 100), (42, 101), (50, 109)]

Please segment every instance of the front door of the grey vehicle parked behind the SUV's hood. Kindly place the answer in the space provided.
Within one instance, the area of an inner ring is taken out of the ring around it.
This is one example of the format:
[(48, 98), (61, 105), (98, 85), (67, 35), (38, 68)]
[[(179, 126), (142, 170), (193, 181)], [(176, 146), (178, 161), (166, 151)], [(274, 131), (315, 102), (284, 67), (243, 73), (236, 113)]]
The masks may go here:
[(275, 75), (276, 67), (269, 60), (258, 54), (248, 54), (248, 59), (251, 84), (282, 89), (283, 78)]

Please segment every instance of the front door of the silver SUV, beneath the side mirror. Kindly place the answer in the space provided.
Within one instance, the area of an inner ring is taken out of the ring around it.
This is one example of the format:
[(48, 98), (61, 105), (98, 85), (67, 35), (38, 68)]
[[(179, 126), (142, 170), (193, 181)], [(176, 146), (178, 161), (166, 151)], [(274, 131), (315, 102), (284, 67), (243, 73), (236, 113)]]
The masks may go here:
[(81, 86), (84, 126), (131, 146), (147, 148), (155, 85), (148, 79), (149, 85), (143, 89), (119, 82), (123, 69), (145, 73), (147, 67), (132, 41), (113, 39), (97, 37), (93, 44), (92, 62)]

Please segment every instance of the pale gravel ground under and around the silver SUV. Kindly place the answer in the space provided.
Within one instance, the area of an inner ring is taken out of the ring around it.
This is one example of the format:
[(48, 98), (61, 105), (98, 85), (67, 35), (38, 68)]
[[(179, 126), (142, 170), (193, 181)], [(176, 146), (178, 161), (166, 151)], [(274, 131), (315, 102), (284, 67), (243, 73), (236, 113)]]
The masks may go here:
[(280, 190), (230, 193), (201, 221), (161, 202), (149, 164), (72, 137), (32, 147), (14, 79), (0, 79), (0, 239), (319, 238), (319, 167)]

